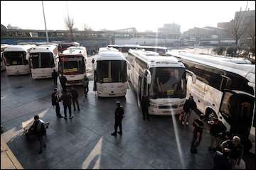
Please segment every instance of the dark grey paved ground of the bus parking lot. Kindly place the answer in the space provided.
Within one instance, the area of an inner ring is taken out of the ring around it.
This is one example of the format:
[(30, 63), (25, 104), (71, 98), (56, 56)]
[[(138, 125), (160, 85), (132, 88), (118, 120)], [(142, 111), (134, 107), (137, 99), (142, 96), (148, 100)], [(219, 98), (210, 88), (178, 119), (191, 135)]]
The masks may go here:
[[(191, 154), (192, 125), (182, 127), (172, 116), (142, 120), (132, 90), (124, 98), (87, 98), (78, 86), (81, 111), (73, 120), (58, 119), (51, 106), (50, 79), (33, 80), (29, 75), (7, 77), (1, 73), (1, 124), (4, 138), (24, 169), (211, 169), (208, 132), (198, 154)], [(123, 136), (112, 137), (115, 101), (124, 106)], [(60, 112), (63, 107), (60, 105)], [(38, 154), (36, 138), (22, 135), (22, 124), (33, 115), (50, 122), (46, 152)], [(193, 115), (193, 118), (197, 115)], [(191, 119), (191, 121), (193, 120)]]

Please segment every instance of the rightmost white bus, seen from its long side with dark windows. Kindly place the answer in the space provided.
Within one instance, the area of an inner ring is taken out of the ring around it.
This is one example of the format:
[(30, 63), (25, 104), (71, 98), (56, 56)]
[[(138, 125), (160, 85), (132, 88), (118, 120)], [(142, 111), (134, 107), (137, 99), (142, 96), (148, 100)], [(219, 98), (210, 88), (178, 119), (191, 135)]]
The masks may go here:
[[(188, 78), (188, 93), (198, 110), (206, 114), (206, 120), (218, 116), (227, 131), (240, 135), (244, 141), (249, 138), (255, 147), (255, 64), (184, 52), (168, 54), (178, 57), (196, 74), (196, 84), (191, 84)], [(255, 153), (255, 148), (251, 151)]]

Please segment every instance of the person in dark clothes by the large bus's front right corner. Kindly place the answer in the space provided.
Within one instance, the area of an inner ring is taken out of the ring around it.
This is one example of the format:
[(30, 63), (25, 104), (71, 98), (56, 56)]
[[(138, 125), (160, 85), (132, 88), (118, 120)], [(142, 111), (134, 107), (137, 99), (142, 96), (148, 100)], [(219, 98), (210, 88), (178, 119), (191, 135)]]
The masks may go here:
[(193, 100), (193, 96), (191, 96), (191, 94), (189, 94), (189, 98), (185, 101), (184, 105), (183, 105), (183, 119), (182, 119), (182, 125), (185, 124), (188, 125), (189, 123), (189, 119), (191, 116), (192, 111), (196, 111), (196, 102)]

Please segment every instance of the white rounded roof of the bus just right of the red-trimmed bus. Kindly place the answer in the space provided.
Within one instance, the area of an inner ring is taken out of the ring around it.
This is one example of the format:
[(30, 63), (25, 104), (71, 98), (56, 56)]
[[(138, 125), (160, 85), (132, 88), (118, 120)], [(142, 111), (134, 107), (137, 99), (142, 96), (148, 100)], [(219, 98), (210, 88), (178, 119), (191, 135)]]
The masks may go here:
[(103, 51), (99, 52), (97, 57), (97, 61), (104, 61), (104, 60), (125, 60), (124, 55), (122, 55), (122, 52), (118, 51)]

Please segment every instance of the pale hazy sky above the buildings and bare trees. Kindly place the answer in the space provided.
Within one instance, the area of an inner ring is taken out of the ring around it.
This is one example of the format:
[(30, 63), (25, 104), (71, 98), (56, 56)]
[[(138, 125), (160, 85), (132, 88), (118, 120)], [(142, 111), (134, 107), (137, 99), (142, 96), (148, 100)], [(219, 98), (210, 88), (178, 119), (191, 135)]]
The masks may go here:
[[(135, 27), (138, 31), (177, 23), (181, 32), (213, 26), (245, 10), (247, 1), (43, 1), (48, 30), (66, 30), (65, 17), (74, 18), (75, 28), (93, 30)], [(255, 10), (255, 1), (247, 8)], [(1, 1), (1, 24), (22, 29), (45, 29), (41, 1)]]

